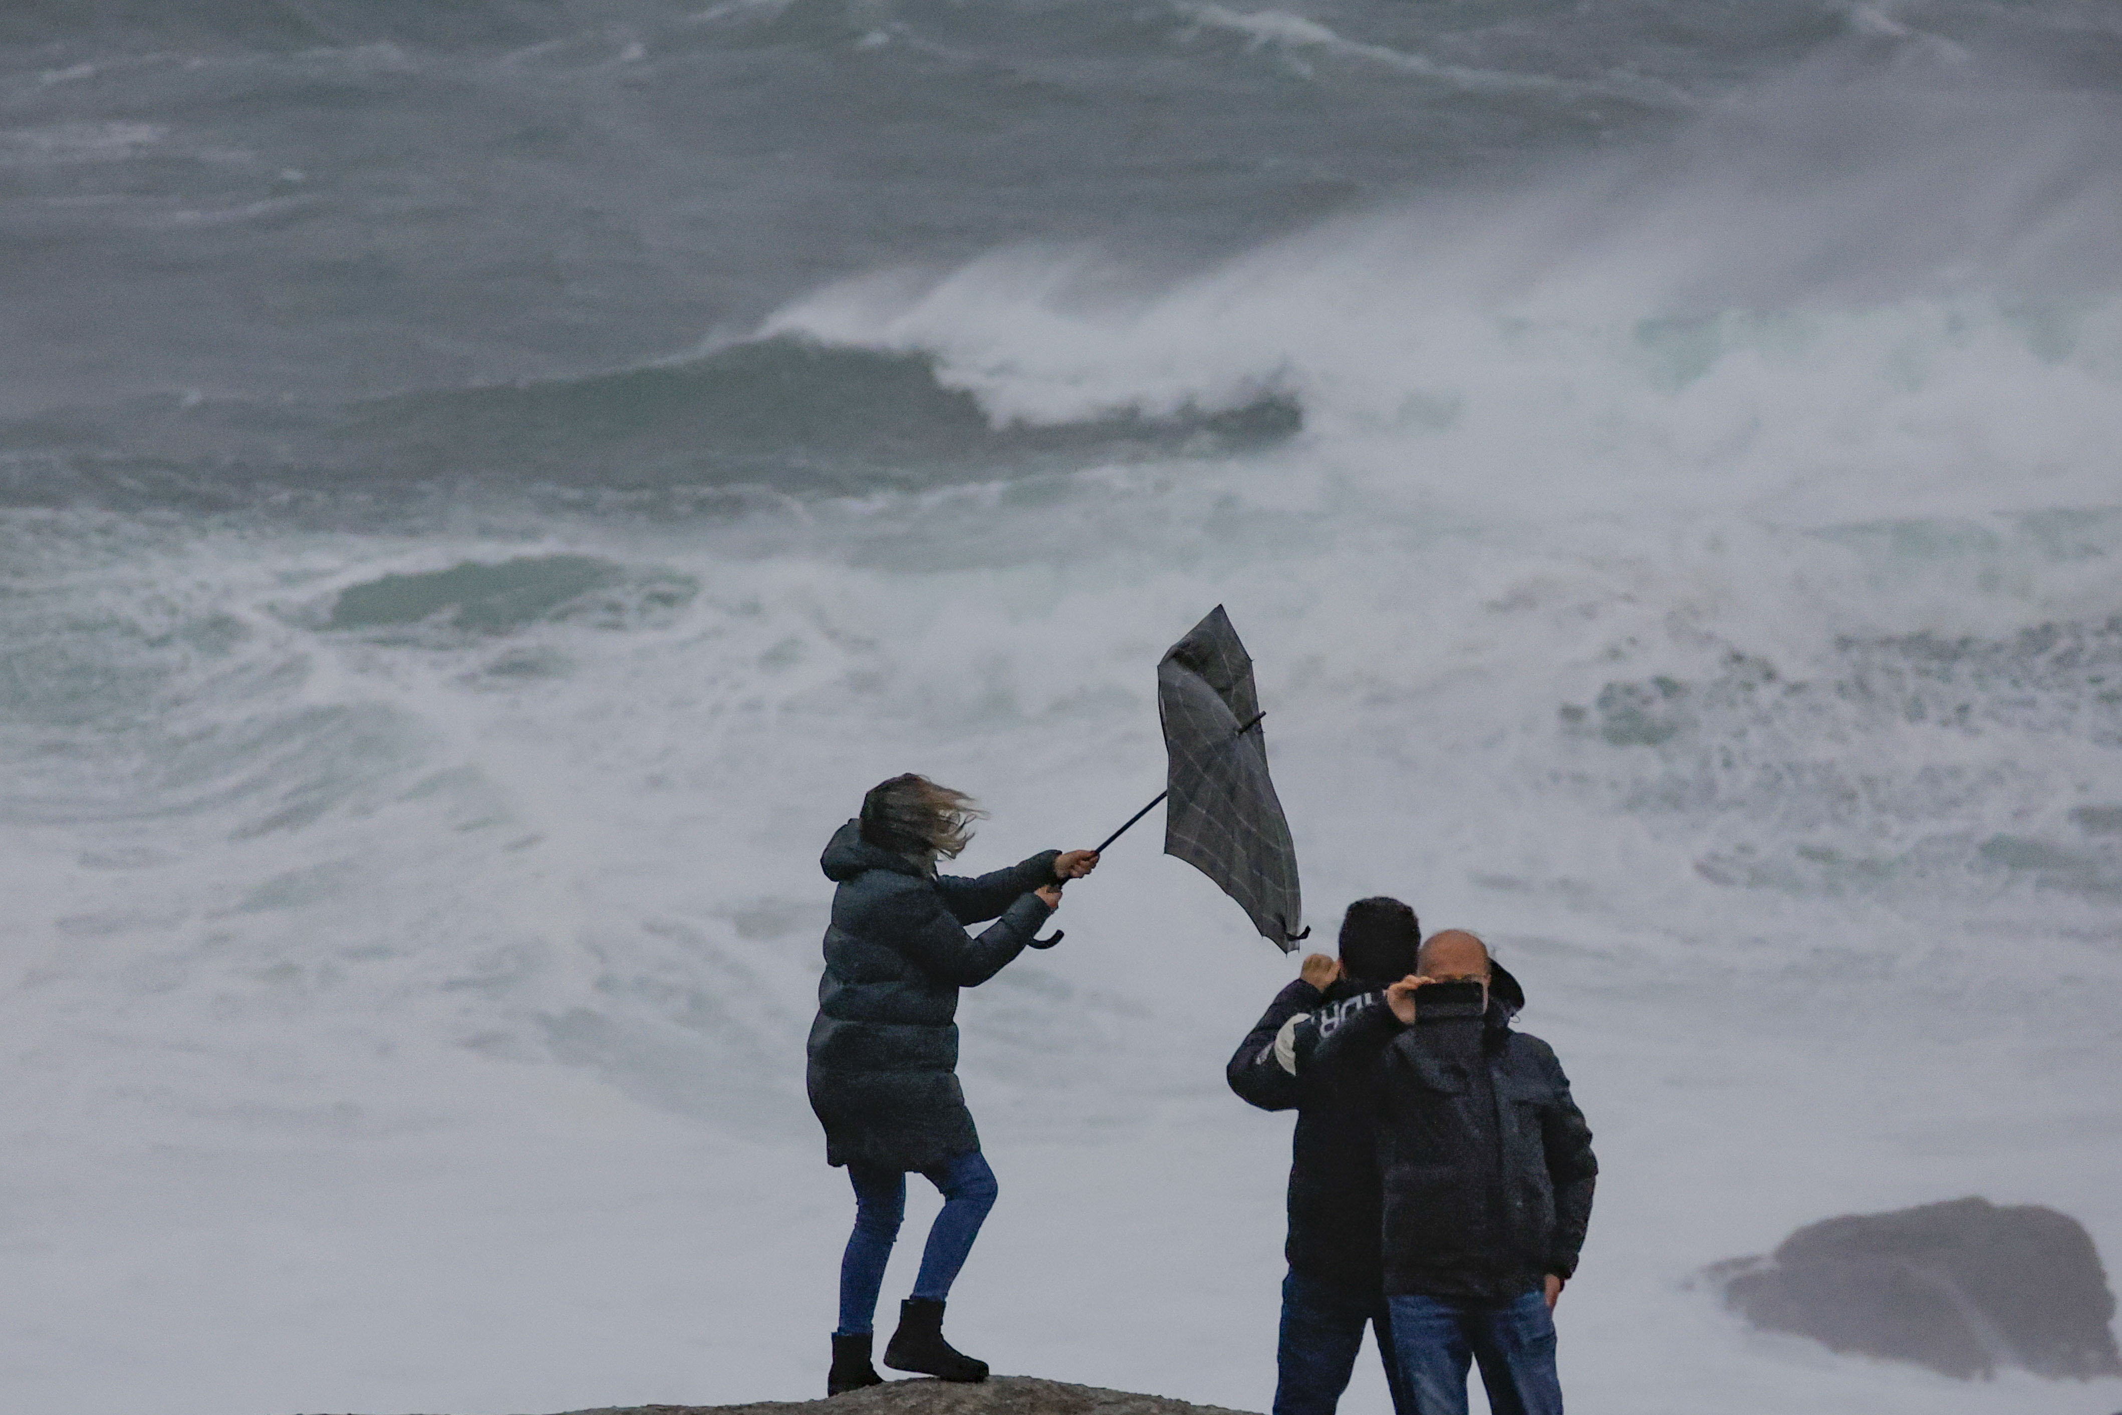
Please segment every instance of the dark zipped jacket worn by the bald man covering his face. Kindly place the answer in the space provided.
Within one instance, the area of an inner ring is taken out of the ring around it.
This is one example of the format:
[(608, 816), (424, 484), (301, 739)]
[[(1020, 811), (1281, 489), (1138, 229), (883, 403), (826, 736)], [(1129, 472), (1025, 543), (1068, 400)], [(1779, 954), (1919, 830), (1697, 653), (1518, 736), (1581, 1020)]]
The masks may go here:
[(1388, 1296), (1496, 1305), (1577, 1271), (1598, 1160), (1555, 1052), (1496, 997), (1384, 995), (1309, 1056), (1314, 1082), (1377, 1122)]

